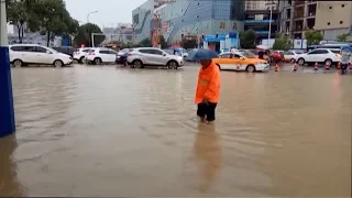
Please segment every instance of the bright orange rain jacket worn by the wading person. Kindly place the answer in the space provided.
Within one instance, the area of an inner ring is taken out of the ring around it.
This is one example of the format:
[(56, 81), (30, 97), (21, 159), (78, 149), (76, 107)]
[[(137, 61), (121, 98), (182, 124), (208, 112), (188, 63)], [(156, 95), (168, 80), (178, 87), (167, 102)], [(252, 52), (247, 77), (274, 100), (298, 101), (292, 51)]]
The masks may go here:
[(200, 67), (198, 74), (198, 85), (196, 90), (195, 103), (201, 103), (202, 99), (218, 103), (220, 98), (220, 70), (211, 62), (207, 68)]

